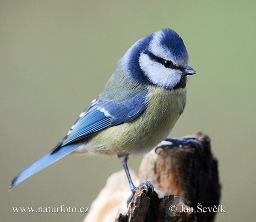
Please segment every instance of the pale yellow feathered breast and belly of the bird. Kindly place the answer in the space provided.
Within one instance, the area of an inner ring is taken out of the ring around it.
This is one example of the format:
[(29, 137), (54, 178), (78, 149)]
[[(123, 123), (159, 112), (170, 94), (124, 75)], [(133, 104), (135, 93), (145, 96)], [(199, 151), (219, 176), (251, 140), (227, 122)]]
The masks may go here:
[(165, 139), (184, 109), (186, 88), (167, 91), (151, 86), (148, 91), (148, 108), (140, 117), (85, 139), (75, 153), (138, 154)]

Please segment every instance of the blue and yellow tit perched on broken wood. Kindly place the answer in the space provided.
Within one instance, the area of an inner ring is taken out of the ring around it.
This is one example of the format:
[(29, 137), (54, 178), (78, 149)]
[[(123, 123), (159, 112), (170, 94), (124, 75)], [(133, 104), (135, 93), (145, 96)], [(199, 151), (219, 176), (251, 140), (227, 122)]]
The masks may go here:
[[(167, 138), (186, 105), (189, 56), (182, 38), (163, 28), (135, 42), (118, 61), (101, 94), (79, 115), (67, 135), (44, 157), (21, 171), (10, 189), (67, 154), (117, 156), (131, 188), (129, 155), (145, 154), (162, 140), (172, 145), (195, 138)], [(154, 191), (151, 182), (139, 187)]]

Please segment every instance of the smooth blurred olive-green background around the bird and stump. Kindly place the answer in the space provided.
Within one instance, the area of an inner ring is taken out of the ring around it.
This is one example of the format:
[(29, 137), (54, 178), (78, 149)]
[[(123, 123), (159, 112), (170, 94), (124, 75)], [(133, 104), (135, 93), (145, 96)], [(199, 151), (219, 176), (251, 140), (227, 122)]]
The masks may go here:
[[(137, 40), (177, 31), (197, 74), (172, 137), (201, 130), (219, 160), (216, 221), (255, 221), (255, 1), (0, 1), (0, 221), (82, 221), (84, 213), (12, 207), (90, 206), (122, 169), (117, 158), (70, 155), (8, 191), (98, 96)], [(141, 157), (128, 165), (137, 170)]]

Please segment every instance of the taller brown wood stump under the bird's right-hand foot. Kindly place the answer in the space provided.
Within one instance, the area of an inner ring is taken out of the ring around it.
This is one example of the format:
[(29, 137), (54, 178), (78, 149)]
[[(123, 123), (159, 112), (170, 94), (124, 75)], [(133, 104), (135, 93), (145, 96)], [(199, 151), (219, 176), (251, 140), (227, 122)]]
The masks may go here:
[[(201, 132), (194, 136), (203, 148), (166, 145), (166, 149), (150, 151), (140, 164), (139, 179), (150, 180), (154, 188), (188, 199), (190, 206), (197, 210), (199, 203), (203, 207), (218, 206), (220, 183), (218, 161), (211, 153), (209, 137)], [(162, 142), (165, 143), (168, 142)], [(196, 213), (198, 222), (211, 222), (214, 215), (214, 212)]]

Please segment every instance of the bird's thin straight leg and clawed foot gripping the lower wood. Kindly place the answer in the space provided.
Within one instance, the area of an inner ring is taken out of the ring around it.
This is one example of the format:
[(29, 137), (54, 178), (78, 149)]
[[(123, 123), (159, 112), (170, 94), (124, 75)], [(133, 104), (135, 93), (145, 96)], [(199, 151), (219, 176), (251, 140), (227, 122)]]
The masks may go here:
[(151, 188), (152, 190), (152, 193), (154, 191), (154, 187), (152, 185), (152, 183), (150, 181), (146, 181), (146, 182), (142, 182), (138, 187), (135, 187), (132, 180), (131, 180), (131, 175), (129, 173), (129, 170), (128, 170), (128, 166), (127, 166), (127, 160), (128, 160), (128, 154), (124, 154), (124, 155), (117, 155), (117, 157), (120, 159), (120, 161), (122, 162), (122, 165), (125, 169), (125, 173), (126, 173), (126, 176), (128, 178), (128, 181), (129, 181), (129, 185), (130, 185), (130, 188), (131, 188), (131, 196), (129, 196), (128, 200), (127, 200), (127, 206), (128, 204), (131, 202), (131, 199), (133, 198), (135, 192), (137, 191), (137, 188), (139, 187), (144, 187), (146, 189), (146, 193), (148, 193), (148, 187)]

